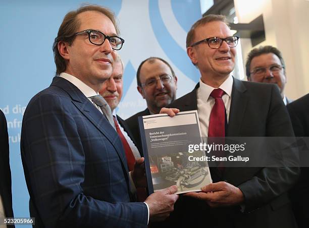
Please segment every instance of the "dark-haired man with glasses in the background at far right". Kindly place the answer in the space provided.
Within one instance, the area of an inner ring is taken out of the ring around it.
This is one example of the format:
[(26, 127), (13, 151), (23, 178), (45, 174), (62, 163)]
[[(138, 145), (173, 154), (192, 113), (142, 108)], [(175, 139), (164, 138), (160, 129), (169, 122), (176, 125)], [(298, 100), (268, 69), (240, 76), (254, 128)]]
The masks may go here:
[(246, 75), (250, 82), (276, 84), (284, 104), (287, 105), (292, 102), (284, 94), (285, 65), (282, 54), (276, 47), (268, 45), (252, 49), (247, 56)]

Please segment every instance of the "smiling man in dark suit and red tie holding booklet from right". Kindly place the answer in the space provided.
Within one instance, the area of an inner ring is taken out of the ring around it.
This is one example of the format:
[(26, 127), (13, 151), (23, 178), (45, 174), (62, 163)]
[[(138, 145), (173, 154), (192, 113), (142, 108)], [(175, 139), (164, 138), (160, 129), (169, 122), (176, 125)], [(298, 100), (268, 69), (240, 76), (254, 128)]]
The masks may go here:
[[(187, 53), (201, 78), (192, 92), (169, 106), (197, 109), (203, 137), (293, 136), (275, 85), (230, 75), (237, 42), (224, 16), (208, 15), (193, 24)], [(166, 225), (296, 227), (286, 192), (298, 172), (297, 167), (211, 167), (214, 183), (181, 197)]]

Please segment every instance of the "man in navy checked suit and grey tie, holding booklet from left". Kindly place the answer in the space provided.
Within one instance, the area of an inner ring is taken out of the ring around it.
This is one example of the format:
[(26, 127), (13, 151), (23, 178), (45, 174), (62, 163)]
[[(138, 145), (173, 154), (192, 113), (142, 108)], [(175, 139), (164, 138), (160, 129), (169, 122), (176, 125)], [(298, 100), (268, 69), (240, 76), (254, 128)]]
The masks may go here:
[[(26, 108), (21, 155), (38, 227), (146, 227), (178, 198), (172, 186), (132, 202), (124, 149), (98, 95), (124, 42), (117, 34), (106, 8), (69, 12), (53, 46), (59, 76)], [(142, 175), (139, 162), (130, 174), (136, 187)]]

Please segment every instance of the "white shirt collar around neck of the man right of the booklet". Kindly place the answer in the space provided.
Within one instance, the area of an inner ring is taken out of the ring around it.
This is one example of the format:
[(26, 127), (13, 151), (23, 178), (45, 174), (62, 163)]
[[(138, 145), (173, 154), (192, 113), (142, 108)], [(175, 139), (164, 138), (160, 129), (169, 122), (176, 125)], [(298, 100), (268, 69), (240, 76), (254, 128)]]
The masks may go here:
[[(232, 94), (232, 87), (233, 87), (233, 77), (230, 75), (220, 86), (219, 88), (222, 89), (229, 97), (231, 97)], [(199, 79), (199, 89), (201, 91), (201, 96), (203, 100), (208, 100), (210, 94), (214, 88), (212, 86), (209, 86), (202, 82), (201, 78)]]

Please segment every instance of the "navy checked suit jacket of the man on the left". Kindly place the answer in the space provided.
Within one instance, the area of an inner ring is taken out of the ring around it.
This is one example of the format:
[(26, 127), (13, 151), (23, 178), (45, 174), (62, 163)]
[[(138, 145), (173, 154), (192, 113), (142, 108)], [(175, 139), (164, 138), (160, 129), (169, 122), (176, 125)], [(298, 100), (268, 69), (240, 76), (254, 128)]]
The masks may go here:
[(21, 155), (30, 198), (45, 227), (147, 225), (146, 205), (131, 202), (117, 132), (69, 81), (55, 77), (30, 100)]

